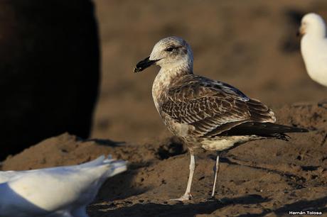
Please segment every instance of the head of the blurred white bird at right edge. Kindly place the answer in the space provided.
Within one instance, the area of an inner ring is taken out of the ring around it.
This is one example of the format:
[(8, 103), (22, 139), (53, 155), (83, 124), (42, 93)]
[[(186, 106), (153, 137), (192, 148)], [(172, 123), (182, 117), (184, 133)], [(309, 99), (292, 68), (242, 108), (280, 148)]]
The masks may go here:
[(326, 25), (323, 18), (316, 13), (307, 13), (301, 20), (299, 33), (301, 33), (301, 35), (325, 38)]

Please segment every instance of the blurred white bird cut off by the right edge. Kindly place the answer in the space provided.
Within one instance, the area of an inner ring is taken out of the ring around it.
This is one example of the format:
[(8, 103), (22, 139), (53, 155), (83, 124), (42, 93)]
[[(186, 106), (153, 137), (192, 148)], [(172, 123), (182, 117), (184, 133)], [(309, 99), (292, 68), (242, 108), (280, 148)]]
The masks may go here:
[(323, 18), (316, 13), (307, 13), (299, 28), (301, 54), (306, 71), (313, 81), (327, 87), (327, 38)]

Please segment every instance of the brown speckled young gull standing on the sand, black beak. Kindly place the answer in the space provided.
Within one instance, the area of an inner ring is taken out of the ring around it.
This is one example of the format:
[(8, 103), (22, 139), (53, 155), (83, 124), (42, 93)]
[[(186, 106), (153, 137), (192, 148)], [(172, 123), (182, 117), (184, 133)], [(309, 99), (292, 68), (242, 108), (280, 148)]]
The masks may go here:
[(191, 153), (186, 192), (176, 200), (191, 199), (194, 154), (198, 148), (218, 152), (214, 196), (221, 151), (251, 140), (286, 140), (284, 133), (307, 131), (274, 124), (274, 113), (260, 101), (250, 99), (229, 84), (193, 74), (193, 53), (182, 38), (160, 40), (151, 55), (136, 65), (134, 72), (141, 72), (154, 63), (161, 67), (152, 87), (156, 109), (167, 128), (186, 143)]

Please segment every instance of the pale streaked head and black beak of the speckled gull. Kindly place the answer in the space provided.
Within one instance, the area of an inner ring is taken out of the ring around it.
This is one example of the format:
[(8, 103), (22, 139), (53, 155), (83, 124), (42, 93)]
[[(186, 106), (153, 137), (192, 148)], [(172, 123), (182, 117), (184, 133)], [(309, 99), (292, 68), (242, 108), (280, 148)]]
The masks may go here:
[(183, 38), (168, 37), (159, 40), (152, 49), (151, 55), (140, 61), (134, 72), (141, 72), (151, 65), (164, 69), (193, 69), (193, 52)]

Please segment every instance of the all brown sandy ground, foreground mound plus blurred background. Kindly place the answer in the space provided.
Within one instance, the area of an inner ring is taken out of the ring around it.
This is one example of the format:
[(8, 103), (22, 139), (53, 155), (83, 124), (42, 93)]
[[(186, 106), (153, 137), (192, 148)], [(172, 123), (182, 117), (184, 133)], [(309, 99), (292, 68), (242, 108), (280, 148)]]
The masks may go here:
[[(102, 154), (129, 161), (88, 207), (90, 216), (288, 216), (322, 211), (327, 216), (327, 89), (309, 79), (299, 53), (294, 16), (326, 1), (107, 1), (95, 0), (102, 43), (102, 87), (92, 138), (63, 134), (18, 155), (2, 169), (32, 169), (87, 162)], [(261, 140), (222, 156), (215, 199), (214, 153), (197, 159), (194, 199), (183, 194), (189, 155), (171, 138), (151, 99), (158, 68), (132, 74), (161, 38), (191, 44), (195, 72), (260, 99), (277, 122), (309, 128), (291, 140)]]

